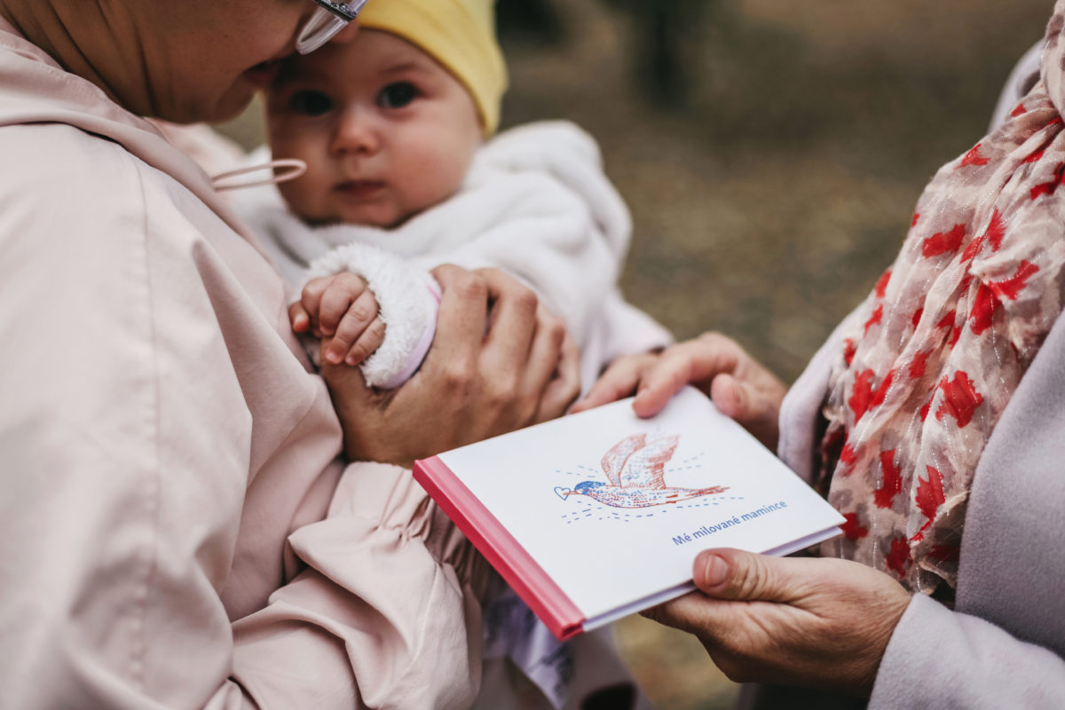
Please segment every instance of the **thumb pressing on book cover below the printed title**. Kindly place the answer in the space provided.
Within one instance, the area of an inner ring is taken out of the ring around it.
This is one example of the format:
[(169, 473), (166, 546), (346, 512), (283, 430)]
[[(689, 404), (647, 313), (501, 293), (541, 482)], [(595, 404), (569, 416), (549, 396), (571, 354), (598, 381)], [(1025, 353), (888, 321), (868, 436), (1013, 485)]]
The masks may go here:
[(740, 549), (703, 550), (692, 579), (707, 596), (734, 601), (785, 601), (794, 595), (786, 563)]

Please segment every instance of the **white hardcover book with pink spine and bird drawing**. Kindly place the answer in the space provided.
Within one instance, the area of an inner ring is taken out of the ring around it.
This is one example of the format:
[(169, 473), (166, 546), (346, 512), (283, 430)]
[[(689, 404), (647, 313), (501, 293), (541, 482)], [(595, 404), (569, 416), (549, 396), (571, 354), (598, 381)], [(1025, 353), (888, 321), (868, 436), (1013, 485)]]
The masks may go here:
[(686, 387), (445, 451), (415, 480), (559, 639), (694, 589), (710, 547), (787, 555), (839, 533), (821, 496)]

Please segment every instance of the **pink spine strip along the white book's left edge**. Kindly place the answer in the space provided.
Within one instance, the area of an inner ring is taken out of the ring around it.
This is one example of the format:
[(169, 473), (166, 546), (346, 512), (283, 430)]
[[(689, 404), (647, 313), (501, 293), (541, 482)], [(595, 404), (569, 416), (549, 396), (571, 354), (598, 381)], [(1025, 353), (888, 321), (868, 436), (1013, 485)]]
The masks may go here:
[(503, 575), (560, 641), (584, 631), (585, 615), (439, 457), (414, 462), (414, 480)]

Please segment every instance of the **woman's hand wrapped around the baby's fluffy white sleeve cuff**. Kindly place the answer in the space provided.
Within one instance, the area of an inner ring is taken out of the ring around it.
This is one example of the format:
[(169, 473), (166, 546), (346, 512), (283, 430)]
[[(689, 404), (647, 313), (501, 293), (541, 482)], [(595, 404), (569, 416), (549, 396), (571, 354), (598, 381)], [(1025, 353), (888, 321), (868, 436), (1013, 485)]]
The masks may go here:
[(353, 461), (410, 467), (559, 416), (580, 391), (576, 347), (531, 291), (494, 269), (447, 265), (433, 276), (443, 287), (437, 335), (406, 384), (377, 391), (358, 368), (323, 365)]

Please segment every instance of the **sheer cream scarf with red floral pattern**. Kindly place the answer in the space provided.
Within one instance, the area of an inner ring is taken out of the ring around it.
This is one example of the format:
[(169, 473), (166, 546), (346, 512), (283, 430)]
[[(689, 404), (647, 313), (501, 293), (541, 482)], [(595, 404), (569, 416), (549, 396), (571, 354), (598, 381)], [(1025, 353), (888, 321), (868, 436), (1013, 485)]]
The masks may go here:
[(902, 252), (841, 329), (816, 482), (847, 524), (821, 551), (914, 591), (952, 596), (977, 464), (1062, 312), (1063, 28), (1059, 0), (1042, 81), (936, 174)]

